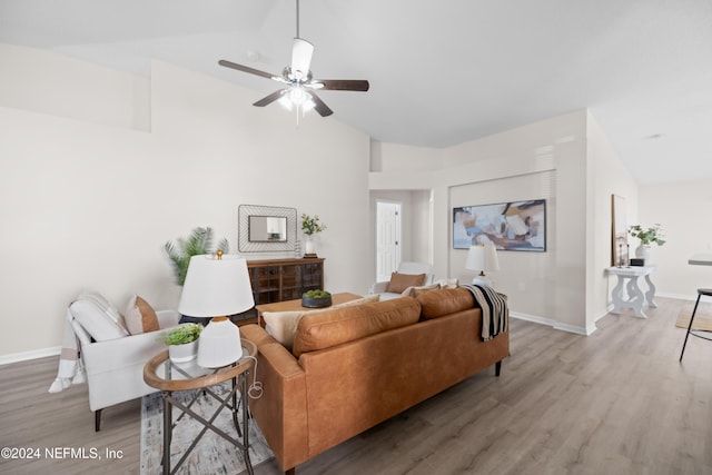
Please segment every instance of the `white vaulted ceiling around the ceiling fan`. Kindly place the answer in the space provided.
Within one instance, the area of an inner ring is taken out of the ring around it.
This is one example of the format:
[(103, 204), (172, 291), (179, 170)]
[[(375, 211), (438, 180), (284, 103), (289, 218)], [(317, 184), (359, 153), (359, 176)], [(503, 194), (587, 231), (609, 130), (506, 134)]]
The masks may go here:
[[(712, 178), (710, 0), (301, 0), (334, 117), (375, 140), (446, 147), (587, 107), (641, 184)], [(149, 75), (152, 58), (279, 85), (295, 0), (0, 0), (0, 42)], [(255, 55), (257, 58), (255, 59)], [(279, 107), (273, 105), (270, 107)]]

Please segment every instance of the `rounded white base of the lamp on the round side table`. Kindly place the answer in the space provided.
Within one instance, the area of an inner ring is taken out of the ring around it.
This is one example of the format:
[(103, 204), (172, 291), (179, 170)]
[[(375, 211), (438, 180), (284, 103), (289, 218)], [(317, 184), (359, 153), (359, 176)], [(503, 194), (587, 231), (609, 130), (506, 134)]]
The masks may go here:
[(220, 368), (243, 357), (240, 329), (227, 317), (214, 318), (198, 339), (198, 366)]

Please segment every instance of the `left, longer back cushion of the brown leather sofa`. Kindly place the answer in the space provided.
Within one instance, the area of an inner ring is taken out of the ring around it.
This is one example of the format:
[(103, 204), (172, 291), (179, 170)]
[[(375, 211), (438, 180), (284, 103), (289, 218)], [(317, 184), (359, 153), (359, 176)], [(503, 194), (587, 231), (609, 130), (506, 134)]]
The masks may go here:
[(294, 338), (291, 353), (329, 348), (418, 321), (421, 304), (412, 297), (336, 308), (305, 315)]

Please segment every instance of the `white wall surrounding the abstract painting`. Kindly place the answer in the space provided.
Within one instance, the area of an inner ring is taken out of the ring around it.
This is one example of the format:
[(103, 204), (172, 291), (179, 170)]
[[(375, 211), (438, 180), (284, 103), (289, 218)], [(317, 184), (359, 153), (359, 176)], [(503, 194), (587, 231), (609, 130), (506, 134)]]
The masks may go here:
[[(462, 280), (472, 273), (466, 251), (452, 248), (453, 207), (546, 198), (546, 253), (500, 253), (492, 277), (520, 317), (590, 334), (609, 301), (601, 257), (610, 258), (610, 195), (623, 190), (636, 202), (630, 176), (603, 184), (606, 169), (622, 166), (590, 119), (578, 110), (441, 151), (382, 146), (369, 187), (432, 187), (435, 273)], [(404, 165), (408, 156), (418, 158), (413, 168)]]

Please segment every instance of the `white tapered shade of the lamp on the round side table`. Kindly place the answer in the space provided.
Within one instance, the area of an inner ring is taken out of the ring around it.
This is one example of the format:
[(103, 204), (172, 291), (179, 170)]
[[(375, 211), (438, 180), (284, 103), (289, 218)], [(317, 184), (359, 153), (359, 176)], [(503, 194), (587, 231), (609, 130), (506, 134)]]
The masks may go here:
[(235, 255), (190, 258), (178, 311), (191, 317), (235, 315), (255, 305), (247, 261)]

